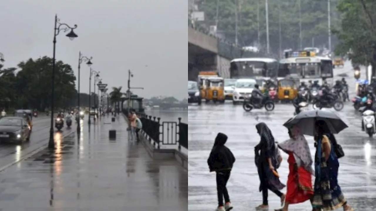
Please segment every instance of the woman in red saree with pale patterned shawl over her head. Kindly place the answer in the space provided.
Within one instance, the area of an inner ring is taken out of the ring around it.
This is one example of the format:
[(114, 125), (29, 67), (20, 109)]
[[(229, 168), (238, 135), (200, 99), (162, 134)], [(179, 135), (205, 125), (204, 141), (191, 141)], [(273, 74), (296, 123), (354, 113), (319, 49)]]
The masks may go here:
[(302, 203), (313, 196), (312, 189), (312, 157), (308, 142), (299, 132), (298, 127), (289, 130), (290, 138), (278, 147), (288, 154), (289, 174), (287, 179), (287, 193), (283, 208), (275, 211), (288, 211), (290, 204)]

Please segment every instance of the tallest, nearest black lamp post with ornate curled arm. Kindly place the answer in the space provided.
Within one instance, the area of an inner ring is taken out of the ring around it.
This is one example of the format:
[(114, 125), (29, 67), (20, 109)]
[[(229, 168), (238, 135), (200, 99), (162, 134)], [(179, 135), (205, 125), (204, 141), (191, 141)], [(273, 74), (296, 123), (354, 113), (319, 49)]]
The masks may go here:
[[(59, 24), (59, 25), (58, 25)], [(55, 15), (55, 28), (53, 33), (53, 58), (52, 58), (52, 77), (51, 77), (51, 83), (52, 83), (52, 89), (51, 89), (51, 125), (50, 125), (50, 139), (48, 142), (48, 147), (50, 149), (55, 149), (55, 141), (53, 139), (53, 109), (54, 109), (54, 92), (55, 92), (55, 51), (56, 51), (56, 36), (59, 35), (61, 31), (68, 32), (68, 30), (71, 30), (67, 35), (70, 40), (73, 40), (74, 38), (78, 37), (76, 33), (73, 32), (73, 29), (76, 29), (77, 25), (74, 24), (74, 27), (68, 26), (68, 24), (60, 23), (60, 20), (58, 19), (58, 15)]]

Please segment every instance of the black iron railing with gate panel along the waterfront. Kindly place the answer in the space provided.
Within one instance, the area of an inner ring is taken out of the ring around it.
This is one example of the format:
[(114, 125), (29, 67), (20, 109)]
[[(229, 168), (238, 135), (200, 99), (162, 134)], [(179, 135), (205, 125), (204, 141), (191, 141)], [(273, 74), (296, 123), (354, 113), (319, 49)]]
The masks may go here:
[[(124, 115), (128, 116), (127, 110), (123, 110)], [(188, 149), (188, 124), (181, 122), (182, 118), (178, 118), (177, 122), (163, 121), (161, 118), (138, 113), (142, 123), (141, 133), (147, 140), (160, 149), (161, 145), (178, 145)]]

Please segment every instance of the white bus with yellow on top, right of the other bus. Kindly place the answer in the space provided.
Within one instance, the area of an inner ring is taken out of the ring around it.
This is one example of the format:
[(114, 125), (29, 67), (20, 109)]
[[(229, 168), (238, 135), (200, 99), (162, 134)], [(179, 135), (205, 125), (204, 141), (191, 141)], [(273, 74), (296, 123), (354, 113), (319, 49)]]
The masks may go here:
[(279, 61), (278, 77), (297, 78), (299, 83), (323, 80), (333, 85), (333, 62), (331, 58), (316, 56), (312, 51), (294, 51), (285, 53), (285, 59)]

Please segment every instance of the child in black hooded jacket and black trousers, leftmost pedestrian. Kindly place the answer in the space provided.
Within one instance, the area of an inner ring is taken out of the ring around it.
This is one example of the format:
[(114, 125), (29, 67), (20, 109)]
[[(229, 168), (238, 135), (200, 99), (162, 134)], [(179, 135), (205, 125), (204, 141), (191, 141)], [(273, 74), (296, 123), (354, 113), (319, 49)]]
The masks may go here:
[[(229, 193), (226, 184), (230, 178), (231, 169), (235, 162), (235, 157), (229, 148), (224, 146), (227, 141), (226, 134), (218, 133), (215, 137), (213, 148), (208, 158), (208, 166), (210, 172), (216, 172), (217, 180), (217, 211), (229, 211), (232, 209)], [(225, 204), (223, 205), (223, 197)]]

